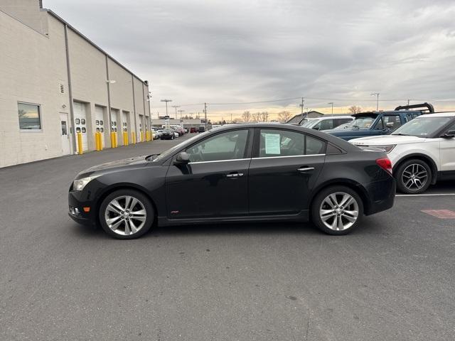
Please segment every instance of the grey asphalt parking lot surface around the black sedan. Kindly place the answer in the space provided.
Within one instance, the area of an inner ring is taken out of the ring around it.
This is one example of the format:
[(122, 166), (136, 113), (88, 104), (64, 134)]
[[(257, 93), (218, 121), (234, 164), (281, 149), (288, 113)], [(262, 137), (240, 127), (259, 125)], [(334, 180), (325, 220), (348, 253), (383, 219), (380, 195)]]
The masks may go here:
[(454, 340), (455, 219), (432, 211), (455, 211), (453, 183), (344, 237), (210, 224), (119, 241), (70, 220), (76, 173), (185, 138), (0, 169), (0, 340)]

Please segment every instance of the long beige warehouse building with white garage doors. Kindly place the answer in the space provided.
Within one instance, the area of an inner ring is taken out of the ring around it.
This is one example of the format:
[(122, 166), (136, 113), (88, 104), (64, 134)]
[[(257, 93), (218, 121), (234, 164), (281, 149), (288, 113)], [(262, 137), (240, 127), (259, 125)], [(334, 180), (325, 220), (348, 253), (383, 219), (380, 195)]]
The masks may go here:
[(146, 138), (149, 84), (38, 0), (0, 0), (0, 167)]

